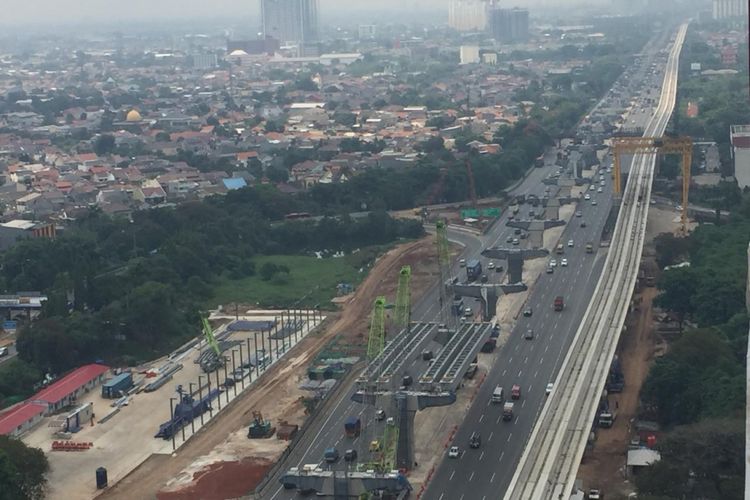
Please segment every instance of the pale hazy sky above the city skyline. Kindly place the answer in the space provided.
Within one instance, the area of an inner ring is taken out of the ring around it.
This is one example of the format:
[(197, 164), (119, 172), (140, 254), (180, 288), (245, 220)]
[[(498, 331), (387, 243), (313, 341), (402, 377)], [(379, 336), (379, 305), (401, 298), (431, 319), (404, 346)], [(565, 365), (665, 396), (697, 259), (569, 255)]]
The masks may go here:
[[(448, 0), (320, 0), (326, 12), (362, 6), (372, 10), (399, 8), (432, 10), (446, 8)], [(525, 6), (543, 2), (580, 3), (581, 0), (502, 0), (507, 6)], [(589, 0), (601, 2), (602, 0)], [(260, 0), (0, 0), (0, 24), (71, 23), (125, 19), (252, 18), (259, 12)], [(369, 6), (369, 7), (368, 7)], [(447, 16), (447, 12), (446, 12)]]

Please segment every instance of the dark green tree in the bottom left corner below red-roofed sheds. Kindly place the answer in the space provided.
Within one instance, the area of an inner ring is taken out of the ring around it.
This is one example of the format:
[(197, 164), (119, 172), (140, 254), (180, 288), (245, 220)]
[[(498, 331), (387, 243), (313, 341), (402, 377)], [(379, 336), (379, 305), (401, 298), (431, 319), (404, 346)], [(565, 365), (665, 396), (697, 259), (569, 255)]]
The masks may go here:
[(45, 497), (49, 463), (44, 452), (22, 441), (0, 436), (0, 492), (7, 500), (41, 500)]

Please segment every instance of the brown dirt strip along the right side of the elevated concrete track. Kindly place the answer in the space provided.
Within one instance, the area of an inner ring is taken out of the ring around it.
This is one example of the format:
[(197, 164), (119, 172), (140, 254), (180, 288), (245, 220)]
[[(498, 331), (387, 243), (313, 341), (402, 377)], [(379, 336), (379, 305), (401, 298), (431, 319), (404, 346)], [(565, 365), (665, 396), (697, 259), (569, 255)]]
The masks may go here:
[[(663, 232), (676, 232), (679, 215), (674, 210), (651, 208), (647, 226), (644, 254), (653, 253), (653, 238)], [(640, 301), (628, 315), (627, 330), (618, 348), (618, 356), (625, 374), (625, 389), (610, 396), (610, 404), (617, 407), (617, 419), (610, 429), (599, 429), (593, 449), (587, 450), (578, 478), (585, 488), (599, 488), (607, 498), (627, 498), (633, 491), (625, 477), (625, 461), (630, 427), (638, 414), (639, 393), (654, 360), (656, 338), (653, 335), (653, 299), (656, 288), (643, 288), (634, 299)]]

